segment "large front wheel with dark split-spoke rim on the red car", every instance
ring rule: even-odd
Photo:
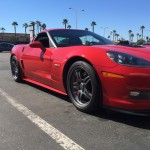
[[[77,61],[72,64],[67,76],[67,92],[78,110],[97,111],[101,104],[100,83],[89,63]]]

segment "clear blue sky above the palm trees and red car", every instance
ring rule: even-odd
[[[24,33],[23,24],[37,20],[47,29],[64,28],[63,19],[76,28],[76,12],[78,29],[92,31],[94,21],[97,34],[108,37],[116,30],[120,37],[129,39],[128,31],[132,30],[136,40],[143,25],[144,37],[150,37],[150,0],[1,0],[0,28],[13,33],[12,22],[16,21],[17,33]]]

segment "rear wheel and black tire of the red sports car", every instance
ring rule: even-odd
[[[16,82],[22,81],[21,69],[17,57],[14,55],[10,60],[12,77]]]

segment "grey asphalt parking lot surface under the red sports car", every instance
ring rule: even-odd
[[[150,117],[79,112],[67,96],[14,82],[9,56],[0,53],[0,150],[69,150],[65,138],[75,150],[150,149]]]

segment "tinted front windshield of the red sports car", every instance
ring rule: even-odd
[[[98,34],[84,30],[51,30],[49,34],[57,47],[114,44]]]

